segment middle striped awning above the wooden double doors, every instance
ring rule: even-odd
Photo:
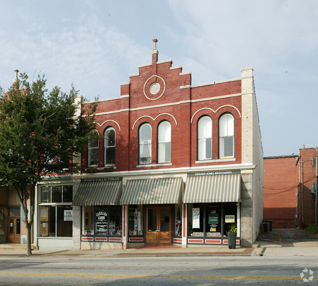
[[[182,202],[182,178],[127,180],[122,205],[177,204]]]

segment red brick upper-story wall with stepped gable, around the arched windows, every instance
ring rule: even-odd
[[[160,90],[151,94],[149,87],[159,83]],[[85,108],[85,106],[84,106]],[[225,112],[235,120],[235,161],[219,161],[218,124]],[[197,161],[197,121],[202,115],[212,118],[212,161]],[[172,67],[172,61],[139,66],[139,73],[121,85],[117,98],[101,100],[96,111],[96,130],[103,134],[112,126],[116,131],[116,169],[114,171],[226,165],[242,162],[241,79],[191,86],[191,73]],[[157,127],[168,120],[171,124],[171,163],[157,163]],[[138,127],[149,123],[152,128],[152,164],[138,166]],[[97,172],[103,169],[103,138],[99,141]],[[252,152],[252,146],[250,146]],[[82,153],[82,172],[87,168],[87,150]]]

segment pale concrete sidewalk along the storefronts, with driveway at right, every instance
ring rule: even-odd
[[[23,247],[23,248],[21,248]],[[261,234],[252,248],[139,247],[116,250],[32,250],[34,257],[134,257],[134,256],[318,256],[318,234],[305,230],[278,230]],[[25,257],[25,245],[0,244],[0,257]]]

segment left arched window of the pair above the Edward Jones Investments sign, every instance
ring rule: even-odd
[[[203,116],[198,121],[198,160],[212,159],[212,119]]]

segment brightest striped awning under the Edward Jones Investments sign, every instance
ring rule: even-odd
[[[187,177],[184,203],[241,201],[241,174]]]

